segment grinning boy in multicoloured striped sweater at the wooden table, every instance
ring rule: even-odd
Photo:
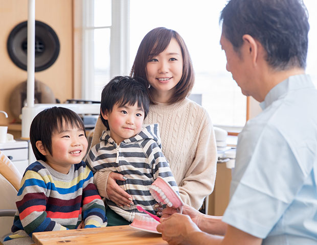
[[[13,234],[4,244],[31,244],[32,233],[106,226],[105,206],[93,173],[82,161],[85,128],[73,111],[53,107],[32,121],[36,162],[29,165],[17,193]]]

